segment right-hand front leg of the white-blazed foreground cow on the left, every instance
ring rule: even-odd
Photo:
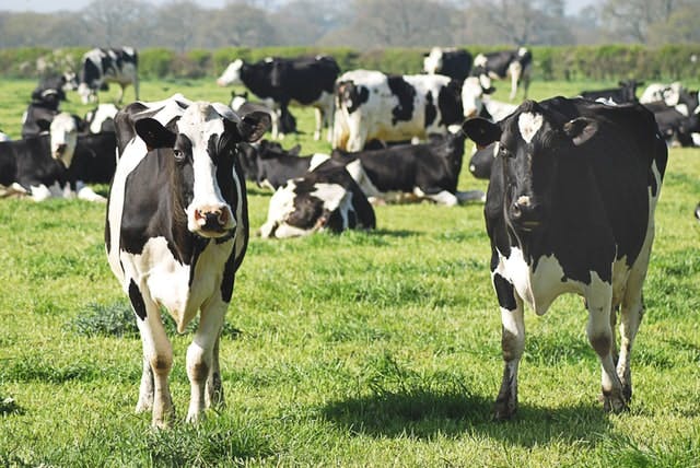
[[[212,299],[201,307],[199,327],[192,343],[187,348],[187,376],[191,387],[187,421],[197,422],[202,417],[207,381],[213,370],[213,351],[223,326],[228,304]]]

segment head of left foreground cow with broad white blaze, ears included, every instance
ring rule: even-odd
[[[266,113],[242,119],[229,107],[192,103],[167,127],[153,118],[135,124],[149,149],[161,149],[174,167],[175,198],[187,229],[202,237],[223,237],[236,226],[244,180],[235,167],[237,143],[258,140],[270,125]]]

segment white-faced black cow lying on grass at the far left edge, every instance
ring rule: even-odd
[[[48,133],[0,142],[0,196],[28,196],[35,201],[78,196],[104,201],[90,187],[78,184],[71,173],[77,144],[78,122],[68,113],[54,118]]]

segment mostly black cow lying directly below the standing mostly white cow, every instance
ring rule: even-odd
[[[352,153],[335,150],[331,157],[346,165],[360,163],[361,172],[348,169],[371,201],[431,200],[452,207],[483,196],[481,191],[457,190],[465,138],[457,130],[420,144]]]

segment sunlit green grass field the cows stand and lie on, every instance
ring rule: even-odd
[[[34,84],[0,85],[13,137]],[[532,96],[596,84],[610,83],[535,82]],[[142,97],[176,91],[230,92],[145,82]],[[295,114],[311,133],[312,113]],[[296,142],[328,149],[310,134],[283,144]],[[486,184],[465,169],[459,188]],[[257,229],[270,194],[248,192]],[[587,314],[563,296],[526,312],[520,412],[491,420],[501,325],[482,206],[423,203],[377,207],[371,233],[253,238],[221,344],[228,406],[182,422],[191,335],[176,336],[170,431],[133,412],[141,344],[107,267],[105,207],[0,200],[0,466],[700,467],[699,200],[700,150],[672,150],[627,413],[603,412]]]

